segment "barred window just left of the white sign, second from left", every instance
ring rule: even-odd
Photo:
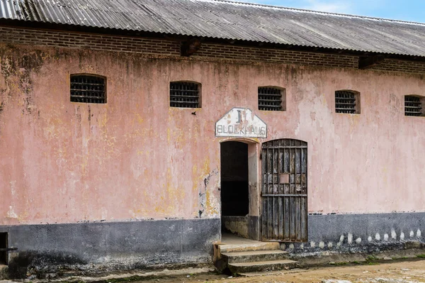
[[[194,82],[170,82],[170,106],[200,108],[199,86]]]

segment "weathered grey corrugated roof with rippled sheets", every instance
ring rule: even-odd
[[[0,18],[425,56],[425,24],[222,0],[0,0]]]

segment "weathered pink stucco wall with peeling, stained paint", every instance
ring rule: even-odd
[[[0,45],[0,224],[219,217],[214,126],[234,106],[307,141],[310,212],[425,211],[425,119],[404,116],[419,75],[36,49]],[[70,102],[74,73],[106,76],[108,104]],[[196,115],[169,107],[175,80],[202,84]],[[287,111],[257,110],[259,86]],[[361,92],[360,115],[334,113],[337,89]]]

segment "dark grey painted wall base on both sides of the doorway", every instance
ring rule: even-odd
[[[284,243],[293,256],[373,253],[423,248],[425,213],[310,215],[309,242]],[[211,262],[220,239],[215,219],[0,226],[8,232],[9,276],[58,270],[85,274],[143,269],[153,265]],[[259,236],[259,218],[249,217],[249,235]]]

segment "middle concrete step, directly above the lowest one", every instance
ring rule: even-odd
[[[228,263],[264,262],[285,260],[288,257],[288,252],[283,250],[253,250],[249,252],[222,253],[222,256],[227,257]]]

